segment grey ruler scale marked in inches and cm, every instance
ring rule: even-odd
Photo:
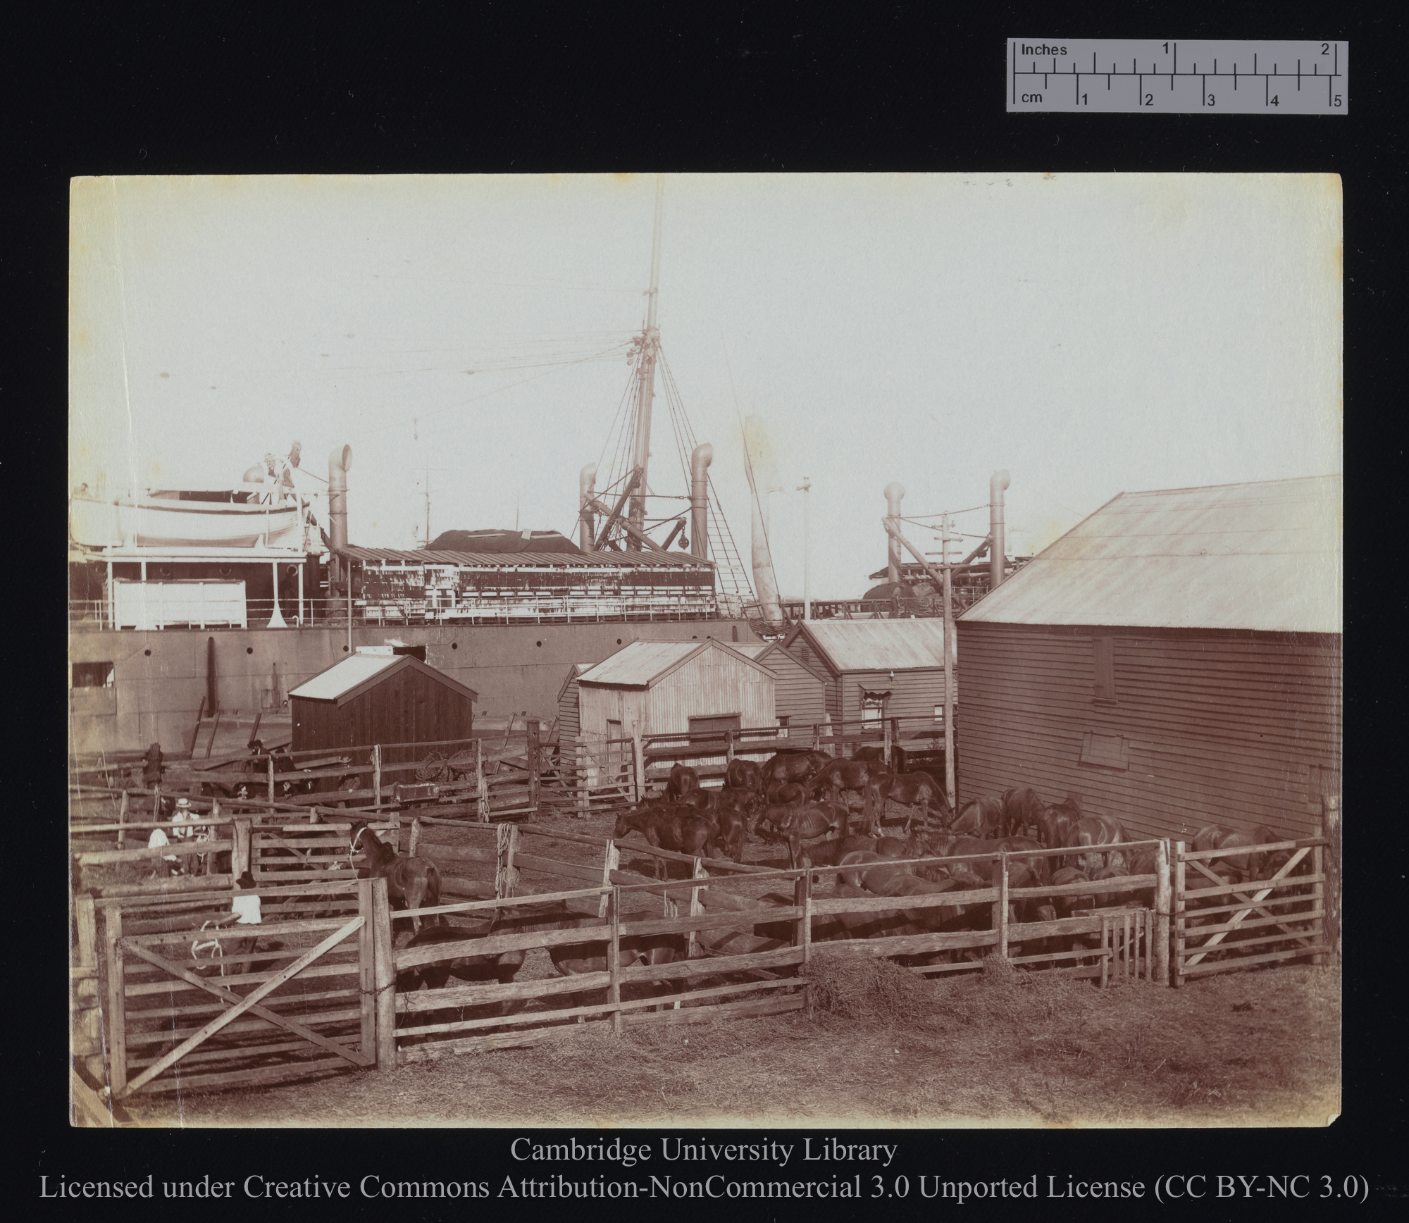
[[[1010,38],[1009,113],[1346,114],[1350,44]]]

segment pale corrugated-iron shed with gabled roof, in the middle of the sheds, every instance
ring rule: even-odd
[[[582,734],[771,727],[774,673],[723,641],[633,641],[578,678]]]

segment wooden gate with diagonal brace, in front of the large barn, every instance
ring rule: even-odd
[[[1326,940],[1324,837],[1226,850],[1174,843],[1174,983],[1254,964],[1310,958],[1323,964]],[[1241,858],[1254,875],[1229,882],[1219,859]],[[1264,865],[1264,864],[1274,865]],[[1275,865],[1279,864],[1279,865]],[[1275,893],[1275,895],[1274,895]],[[1268,899],[1272,898],[1272,899]]]

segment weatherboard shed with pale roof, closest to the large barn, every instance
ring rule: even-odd
[[[888,717],[943,726],[943,620],[805,620],[778,648],[826,676],[824,710],[834,726],[852,724],[848,733]],[[906,727],[914,730],[916,723]]]

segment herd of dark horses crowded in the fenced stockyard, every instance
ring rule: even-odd
[[[865,752],[867,750],[862,750]],[[879,755],[879,752],[876,752]],[[893,774],[885,764],[859,754],[836,759],[824,752],[779,754],[766,764],[731,761],[726,785],[719,790],[703,789],[695,769],[676,765],[665,792],[655,799],[621,813],[617,838],[638,833],[658,848],[675,850],[702,858],[728,857],[743,861],[750,838],[785,845],[790,867],[807,869],[836,868],[830,890],[817,898],[895,898],[896,906],[879,912],[840,913],[813,919],[812,940],[871,938],[905,934],[982,931],[995,920],[991,899],[972,895],[991,889],[998,867],[996,855],[1006,852],[1007,886],[1023,888],[1096,882],[1131,875],[1151,875],[1154,850],[1130,845],[1119,820],[1082,810],[1081,797],[1068,795],[1060,803],[1044,803],[1031,788],[1013,788],[998,797],[972,799],[955,812],[943,790],[926,774]],[[881,827],[885,803],[906,807],[899,836],[886,836]],[[851,820],[859,812],[857,831]],[[1193,848],[1247,847],[1247,852],[1229,854],[1206,865],[1212,874],[1230,883],[1265,879],[1288,861],[1288,851],[1261,852],[1253,847],[1275,841],[1265,827],[1251,833],[1219,826],[1202,828]],[[1069,848],[1071,855],[1024,851]],[[399,910],[434,907],[440,903],[440,872],[427,858],[399,854],[383,843],[365,823],[354,823],[351,855],[364,854],[359,874],[385,878],[390,903]],[[951,862],[913,862],[916,858],[951,858]],[[664,867],[657,859],[658,867]],[[1202,881],[1202,882],[1200,882]],[[1189,889],[1215,886],[1199,875],[1189,878]],[[907,896],[952,893],[954,903],[929,903],[906,907]],[[1216,896],[1216,900],[1224,899]],[[714,931],[702,944],[712,943],[713,954],[766,951],[789,945],[793,923],[769,920],[774,906],[793,903],[792,896],[769,895],[744,902],[737,929]],[[1213,902],[1210,902],[1213,903]],[[1016,898],[1009,906],[1012,926],[1051,921],[1081,910],[1099,907],[1148,907],[1153,888],[1133,886],[1115,892],[1071,893],[1050,898]],[[1199,923],[1198,899],[1189,903],[1191,926]],[[1216,920],[1216,919],[1215,919]],[[486,936],[599,927],[603,919],[585,914],[562,902],[503,906],[492,916],[471,923],[449,924],[444,916],[427,921],[413,917],[411,947],[472,944]],[[1010,954],[1071,952],[1092,948],[1089,936],[1043,937],[1010,944]],[[661,965],[685,960],[689,954],[685,936],[624,936],[620,940],[621,964]],[[603,972],[607,967],[602,938],[552,945],[548,954],[562,975]],[[397,974],[397,989],[441,989],[452,982],[511,982],[524,964],[526,951],[482,955],[466,954]],[[896,957],[903,964],[941,964],[954,957],[978,958],[978,951],[931,951]],[[699,981],[695,982],[700,985]],[[637,982],[621,986],[621,998],[668,998],[683,988],[681,979]],[[606,991],[579,991],[568,995],[569,1006],[592,1006],[606,1000]],[[502,1017],[526,1006],[507,1000],[482,1006],[447,1007],[417,1012],[406,1017],[407,1026],[447,1024],[457,1019]],[[410,1037],[410,1040],[424,1037]]]

